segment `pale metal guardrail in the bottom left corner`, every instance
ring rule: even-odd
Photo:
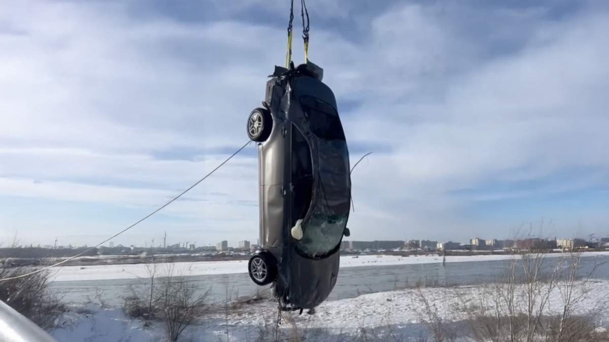
[[[0,342],[57,342],[32,321],[0,301]]]

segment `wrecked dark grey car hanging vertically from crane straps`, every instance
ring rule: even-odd
[[[248,270],[256,284],[273,283],[284,310],[314,309],[336,284],[340,242],[349,236],[347,142],[319,66],[276,66],[271,77],[247,121],[258,142],[260,216]]]

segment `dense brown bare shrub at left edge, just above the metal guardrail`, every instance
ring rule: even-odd
[[[0,268],[0,279],[31,271],[27,268]],[[49,273],[46,272],[0,282],[0,301],[43,329],[52,327],[55,319],[65,312],[60,299],[49,291]]]

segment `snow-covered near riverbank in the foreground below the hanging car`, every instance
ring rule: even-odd
[[[479,302],[481,289],[479,286],[421,288],[324,302],[317,307],[315,315],[283,313],[280,332],[287,337],[295,332],[300,337],[306,335],[308,341],[420,341],[421,337],[429,335],[424,323],[429,311],[421,299],[426,298],[443,324],[459,335],[465,333],[467,324],[463,313],[455,308],[464,300]],[[609,282],[591,282],[589,289],[585,299],[577,305],[578,310],[607,308]],[[560,293],[554,291],[549,313],[557,313],[560,308]],[[244,304],[228,313],[216,308],[188,327],[179,341],[273,340],[276,318],[276,304],[272,301]],[[609,327],[608,310],[600,310],[594,319],[597,331],[606,331],[604,329]],[[126,318],[120,309],[100,309],[95,305],[66,313],[59,325],[51,333],[61,342],[166,341],[161,322],[145,327],[139,319]],[[461,340],[468,341],[466,338]]]

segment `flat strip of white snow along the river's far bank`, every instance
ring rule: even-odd
[[[547,254],[548,257],[560,257],[560,253]],[[582,256],[609,256],[609,251],[586,252]],[[446,262],[479,262],[492,260],[506,260],[518,256],[510,255],[474,255],[474,256],[447,256]],[[342,256],[340,267],[361,267],[372,265],[407,265],[415,263],[440,263],[442,256],[429,254],[429,256]],[[163,272],[169,265],[158,263],[157,269]],[[247,260],[230,261],[204,261],[204,262],[176,262],[173,264],[174,274],[183,276],[199,276],[209,274],[247,273]],[[102,279],[135,279],[147,277],[146,264],[129,265],[94,265],[94,266],[66,266],[54,271],[51,281],[89,281]]]

